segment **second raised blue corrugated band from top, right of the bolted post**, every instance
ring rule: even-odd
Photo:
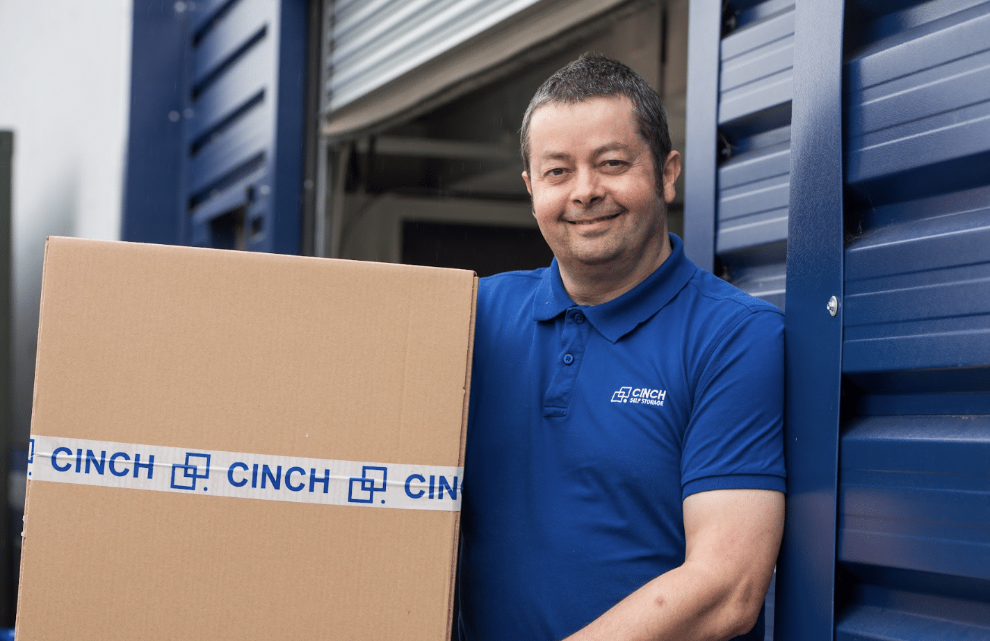
[[[843,372],[990,368],[990,187],[870,218],[895,220],[845,252]]]

